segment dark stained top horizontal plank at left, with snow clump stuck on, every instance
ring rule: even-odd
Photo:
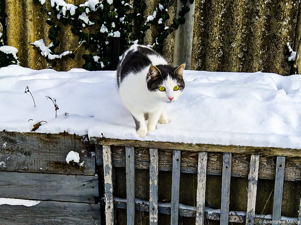
[[[70,151],[79,153],[83,166],[68,164]],[[43,157],[41,157],[43,156]],[[67,133],[0,132],[0,170],[38,173],[95,174],[95,150],[88,137]]]

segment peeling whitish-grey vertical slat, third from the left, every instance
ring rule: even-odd
[[[150,225],[158,224],[158,149],[150,149]]]

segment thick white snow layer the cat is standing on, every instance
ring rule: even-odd
[[[301,148],[301,76],[184,71],[185,89],[166,105],[171,122],[139,138],[116,71],[0,68],[0,130],[239,146]],[[24,90],[29,86],[30,95]],[[57,100],[55,110],[45,96]],[[67,116],[65,116],[67,113]],[[33,119],[33,121],[28,121]],[[2,146],[3,143],[0,143]]]

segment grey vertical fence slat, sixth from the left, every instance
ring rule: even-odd
[[[222,172],[221,225],[228,225],[232,153],[225,152]]]

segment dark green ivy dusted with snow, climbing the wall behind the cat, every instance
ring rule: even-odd
[[[1,1],[1,0],[0,0]],[[43,5],[46,0],[33,0],[36,4]],[[126,50],[133,43],[143,44],[145,33],[151,26],[156,26],[157,35],[152,47],[158,52],[163,50],[166,37],[180,24],[185,23],[184,15],[190,9],[186,5],[188,0],[181,0],[184,6],[178,13],[179,17],[167,24],[169,19],[168,9],[174,4],[173,0],[161,0],[154,13],[145,17],[143,15],[146,4],[142,0],[135,0],[131,5],[129,0],[88,0],[84,4],[73,5],[64,1],[50,0],[52,11],[48,12],[47,24],[51,26],[48,38],[51,40],[46,51],[36,46],[47,61],[56,65],[56,60],[68,55],[75,58],[74,51],[59,54],[56,48],[60,46],[57,35],[62,26],[71,25],[72,33],[78,36],[79,45],[85,46],[94,55],[84,54],[85,63],[82,68],[86,70],[107,70],[110,64],[110,43],[113,37],[120,37],[120,52]],[[193,3],[194,0],[189,0]],[[45,8],[43,8],[45,11]],[[41,41],[41,40],[39,40]],[[43,42],[44,43],[44,42]],[[48,48],[48,50],[47,50]],[[45,50],[44,46],[43,49]],[[65,54],[64,54],[65,53]],[[51,56],[51,57],[50,57]]]

